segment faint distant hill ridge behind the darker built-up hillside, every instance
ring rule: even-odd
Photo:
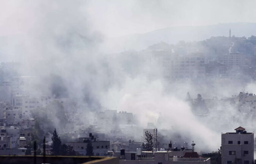
[[[256,35],[256,23],[225,23],[207,26],[182,26],[158,29],[144,34],[126,35],[123,37],[107,38],[105,49],[108,52],[120,52],[135,49],[140,51],[160,41],[176,44],[181,40],[200,41],[212,36],[250,37]]]

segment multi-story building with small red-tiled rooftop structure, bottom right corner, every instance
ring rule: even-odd
[[[243,127],[235,130],[221,134],[221,163],[253,164],[254,133],[247,133]]]

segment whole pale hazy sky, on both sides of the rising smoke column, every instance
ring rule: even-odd
[[[1,0],[0,3],[0,35],[24,34],[36,26],[38,17],[48,12],[40,8],[41,3],[38,1]],[[54,6],[62,1],[49,3]],[[79,0],[68,2],[64,9],[77,6],[74,3],[80,6],[80,13],[84,14],[92,29],[108,37],[144,33],[170,26],[256,20],[254,0]]]

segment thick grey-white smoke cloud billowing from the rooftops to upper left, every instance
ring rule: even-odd
[[[229,129],[214,130],[212,123],[199,121],[184,101],[185,95],[189,91],[192,97],[198,93],[204,98],[225,97],[239,93],[244,85],[235,82],[226,87],[215,82],[191,81],[170,84],[160,78],[161,70],[155,63],[148,63],[147,57],[136,51],[105,54],[101,48],[106,36],[95,31],[97,23],[92,23],[100,19],[90,17],[96,12],[90,6],[105,3],[95,3],[3,3],[0,9],[8,15],[0,17],[3,61],[20,61],[20,75],[36,76],[32,95],[69,97],[77,101],[80,111],[108,108],[133,112],[141,127],[148,122],[157,124],[162,116],[165,121],[159,128],[173,129],[173,133],[193,139],[198,149],[217,150],[220,132]],[[148,13],[148,9],[143,12]],[[253,92],[256,86],[248,84],[246,89]],[[229,108],[227,113],[231,111]]]

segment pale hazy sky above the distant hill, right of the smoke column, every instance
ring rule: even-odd
[[[94,24],[108,36],[170,26],[256,20],[256,1],[253,0],[105,0],[90,2],[89,6]]]

